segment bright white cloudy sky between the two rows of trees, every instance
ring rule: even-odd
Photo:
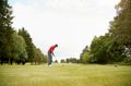
[[[13,27],[24,27],[44,54],[58,44],[53,60],[80,58],[94,36],[105,35],[120,0],[9,0]]]

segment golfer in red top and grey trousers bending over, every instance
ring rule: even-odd
[[[57,47],[58,47],[58,45],[56,44],[56,45],[51,46],[51,47],[49,48],[49,50],[48,50],[48,66],[51,66],[52,56],[55,57],[53,50],[55,50],[55,48],[57,48]]]

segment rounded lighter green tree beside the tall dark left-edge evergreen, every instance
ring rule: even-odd
[[[5,46],[5,61],[9,62],[9,64],[12,64],[13,62],[16,63],[25,63],[27,59],[26,53],[26,45],[22,36],[19,36],[16,33],[13,33],[11,35],[10,45]]]

